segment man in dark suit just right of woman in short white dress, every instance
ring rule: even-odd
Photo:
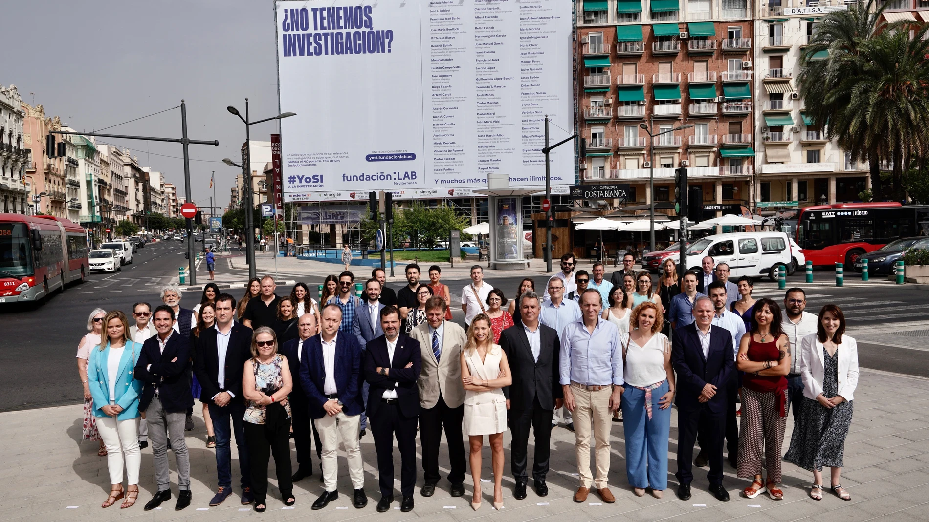
[[[529,481],[526,466],[530,427],[535,434],[532,481],[540,497],[548,494],[545,475],[548,473],[552,414],[561,407],[563,391],[557,385],[561,344],[555,329],[539,322],[542,311],[539,296],[535,292],[526,292],[520,297],[517,307],[520,322],[504,330],[500,346],[513,374],[513,384],[504,388],[504,394],[513,433],[510,467],[517,481],[513,498],[522,500],[526,498],[526,483]]]

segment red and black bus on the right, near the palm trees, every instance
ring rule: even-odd
[[[814,266],[854,266],[858,256],[900,237],[929,236],[929,206],[838,203],[781,210],[779,230],[796,237]]]

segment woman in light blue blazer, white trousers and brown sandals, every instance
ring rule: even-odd
[[[138,448],[138,395],[142,382],[133,377],[142,345],[129,337],[129,322],[118,310],[103,318],[104,341],[91,350],[87,380],[93,398],[94,415],[110,467],[110,496],[100,507],[110,507],[125,497],[125,509],[138,498],[138,468],[142,454]],[[129,486],[123,489],[123,469]]]

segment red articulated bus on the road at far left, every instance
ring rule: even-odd
[[[0,303],[37,302],[90,274],[87,236],[52,216],[0,213]]]

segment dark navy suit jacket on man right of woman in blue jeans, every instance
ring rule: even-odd
[[[732,334],[726,328],[710,325],[710,352],[703,357],[697,323],[674,330],[671,345],[671,363],[677,373],[677,399],[674,403],[682,411],[696,411],[701,407],[712,414],[726,414],[726,388],[735,375]],[[710,383],[716,394],[710,401],[697,400],[703,387]]]

